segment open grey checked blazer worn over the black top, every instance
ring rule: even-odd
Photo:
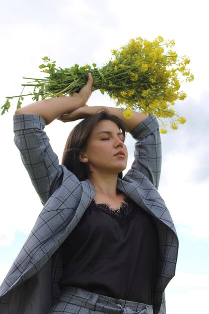
[[[0,287],[1,314],[47,314],[59,298],[60,246],[78,224],[94,196],[89,180],[80,182],[59,165],[45,131],[45,120],[32,114],[14,116],[15,143],[44,205],[26,243]],[[131,131],[137,140],[131,169],[118,189],[148,212],[158,231],[154,314],[165,313],[164,289],[174,276],[178,239],[170,214],[157,192],[161,143],[153,115]],[[140,284],[140,283],[139,283]]]

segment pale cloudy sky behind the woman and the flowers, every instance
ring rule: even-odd
[[[0,5],[0,104],[21,92],[23,77],[40,77],[38,66],[50,56],[61,67],[95,62],[99,67],[130,38],[175,41],[187,55],[194,81],[183,84],[184,101],[175,110],[187,122],[162,137],[159,193],[171,213],[179,237],[176,275],[166,288],[167,314],[205,312],[209,295],[209,90],[208,10],[206,1],[154,0],[7,0]],[[25,98],[23,105],[29,104]],[[99,91],[88,105],[114,106]],[[29,235],[42,204],[30,183],[13,138],[13,114],[0,116],[1,219],[0,281]],[[62,157],[75,125],[54,121],[46,127],[51,145]],[[134,140],[127,136],[128,165]],[[193,302],[192,302],[193,300]],[[195,304],[195,305],[193,305]]]

